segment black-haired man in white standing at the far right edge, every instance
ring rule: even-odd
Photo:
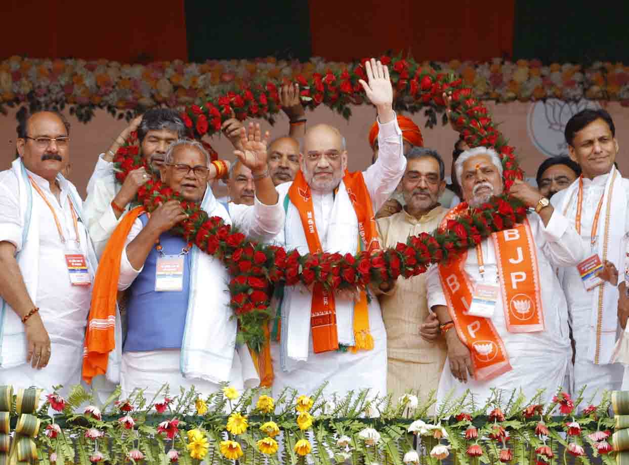
[[[574,221],[587,249],[586,259],[560,271],[575,342],[574,391],[587,388],[586,400],[600,401],[604,389],[620,389],[623,367],[611,363],[618,327],[616,283],[595,276],[601,264],[623,269],[622,255],[629,181],[614,162],[618,154],[615,126],[604,109],[584,109],[565,126],[570,158],[582,174],[555,194],[552,204]]]

